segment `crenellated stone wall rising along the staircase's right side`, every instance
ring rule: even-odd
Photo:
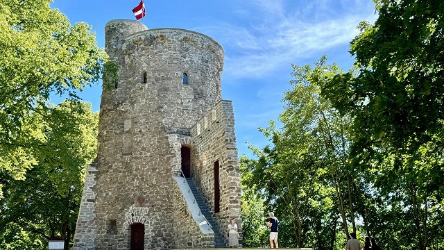
[[[231,101],[220,101],[191,128],[191,174],[223,231],[236,218],[241,234],[241,184]],[[220,212],[214,213],[214,163],[219,161]]]

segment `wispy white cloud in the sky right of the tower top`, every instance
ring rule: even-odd
[[[346,46],[357,35],[359,22],[375,19],[373,6],[361,0],[311,1],[304,8],[293,10],[283,0],[248,3],[252,4],[250,10],[239,10],[244,14],[254,13],[248,17],[251,20],[248,28],[232,23],[205,28],[206,32],[218,34],[225,51],[230,51],[225,54],[224,69],[229,77],[264,76],[287,67],[297,58]],[[345,9],[335,12],[338,6]]]

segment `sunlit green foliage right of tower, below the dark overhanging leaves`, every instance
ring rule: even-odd
[[[244,159],[242,167],[243,185],[263,195],[266,210],[280,219],[281,246],[343,249],[347,232],[356,231],[361,242],[370,235],[382,249],[439,247],[443,130],[427,142],[398,148],[384,140],[386,134],[370,133],[369,126],[379,125],[366,119],[375,110],[359,117],[357,110],[339,106],[339,113],[330,101],[347,100],[347,93],[325,94],[325,86],[338,79],[359,81],[359,72],[343,73],[325,65],[325,57],[314,68],[293,68],[282,128],[274,122],[261,128],[272,144],[262,150],[250,146],[257,159]],[[369,103],[367,98],[353,107],[365,110]]]

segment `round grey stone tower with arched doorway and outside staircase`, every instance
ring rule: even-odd
[[[103,88],[99,151],[87,169],[74,249],[225,244],[219,232],[230,218],[241,225],[241,190],[232,104],[221,98],[221,45],[116,19],[105,25],[105,50],[119,81]]]

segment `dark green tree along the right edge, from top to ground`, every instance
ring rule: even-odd
[[[426,249],[443,239],[430,212],[444,211],[444,3],[377,1],[377,11],[351,42],[359,74],[337,74],[322,94],[353,118],[355,165]]]

